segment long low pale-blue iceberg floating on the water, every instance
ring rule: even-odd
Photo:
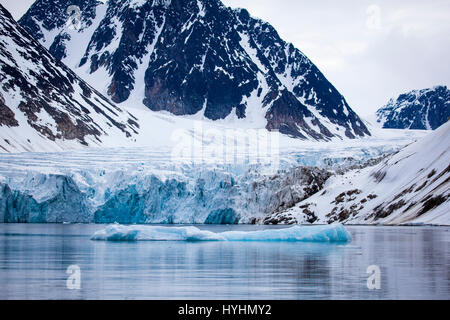
[[[215,233],[197,227],[110,225],[95,232],[92,240],[103,241],[303,241],[350,242],[352,237],[342,224],[294,226],[258,231]]]

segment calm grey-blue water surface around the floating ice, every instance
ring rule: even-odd
[[[448,227],[348,227],[347,245],[89,240],[102,227],[0,224],[0,299],[450,299]]]

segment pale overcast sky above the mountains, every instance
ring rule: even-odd
[[[33,0],[0,0],[18,19]],[[270,24],[361,116],[413,89],[450,87],[449,0],[222,0]]]

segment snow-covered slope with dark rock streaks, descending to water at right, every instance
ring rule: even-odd
[[[331,177],[325,188],[266,223],[450,225],[450,122],[376,166]]]

